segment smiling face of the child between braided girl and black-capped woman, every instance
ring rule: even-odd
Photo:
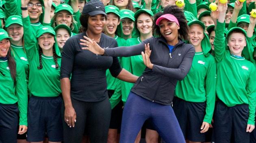
[[[70,35],[66,29],[60,28],[56,31],[56,40],[59,48],[63,48],[68,38],[70,38]]]

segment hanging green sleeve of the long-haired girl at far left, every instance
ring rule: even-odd
[[[18,99],[18,108],[20,110],[20,124],[28,126],[27,110],[28,110],[28,93],[25,69],[17,64],[15,95]]]

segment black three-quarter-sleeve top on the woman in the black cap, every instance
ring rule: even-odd
[[[97,102],[108,97],[106,84],[106,69],[116,77],[121,72],[117,57],[96,55],[89,50],[82,50],[80,39],[85,32],[73,36],[63,46],[61,59],[61,79],[71,78],[71,97],[79,101]],[[117,47],[115,39],[101,34],[102,48]]]

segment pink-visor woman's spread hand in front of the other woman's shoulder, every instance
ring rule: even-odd
[[[91,40],[90,38],[84,36],[84,39],[80,39],[81,43],[80,45],[87,46],[82,47],[83,50],[89,50],[94,54],[103,55],[105,50],[104,48],[101,48],[94,40]]]

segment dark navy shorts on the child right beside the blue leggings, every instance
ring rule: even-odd
[[[206,141],[206,133],[200,132],[206,114],[206,102],[189,102],[174,97],[173,109],[185,139]]]

